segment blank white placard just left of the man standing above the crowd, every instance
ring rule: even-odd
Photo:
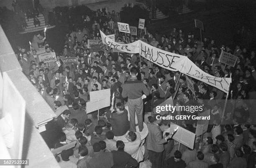
[[[86,102],[86,113],[110,106],[110,89],[90,92],[90,102]]]

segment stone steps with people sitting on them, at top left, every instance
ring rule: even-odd
[[[38,18],[38,20],[40,21],[41,24],[40,24],[40,26],[37,25],[35,27],[33,18],[27,19],[27,17],[26,17],[26,23],[27,23],[28,26],[24,31],[20,32],[20,34],[30,33],[30,32],[35,32],[35,31],[42,31],[42,30],[44,30],[45,27],[47,27],[47,29],[55,27],[55,25],[50,25],[50,26],[45,25],[44,15],[40,14],[40,15],[38,15],[37,18]]]

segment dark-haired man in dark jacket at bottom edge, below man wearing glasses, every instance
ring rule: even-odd
[[[112,168],[130,168],[130,167],[137,167],[138,162],[136,159],[132,158],[130,154],[124,151],[125,144],[123,141],[118,140],[116,142],[116,148],[118,150],[113,150],[113,160],[114,165]]]

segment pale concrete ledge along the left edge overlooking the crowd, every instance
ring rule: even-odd
[[[29,167],[59,167],[54,155],[51,153],[38,131],[39,127],[44,127],[44,125],[56,115],[23,74],[18,59],[1,26],[0,71],[2,73],[5,72],[10,77],[16,89],[18,89],[18,92],[26,101],[22,159],[29,159]],[[15,102],[13,103],[15,104]],[[0,116],[2,116],[1,110]]]

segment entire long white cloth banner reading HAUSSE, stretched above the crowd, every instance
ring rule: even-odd
[[[111,48],[116,48],[125,53],[139,53],[147,60],[162,68],[170,71],[180,71],[182,74],[191,76],[192,78],[216,87],[225,93],[228,93],[229,91],[231,78],[218,78],[207,74],[186,56],[161,50],[140,40],[129,44],[119,44],[110,40],[104,33],[102,33],[102,31],[100,31],[100,33],[102,42]]]

